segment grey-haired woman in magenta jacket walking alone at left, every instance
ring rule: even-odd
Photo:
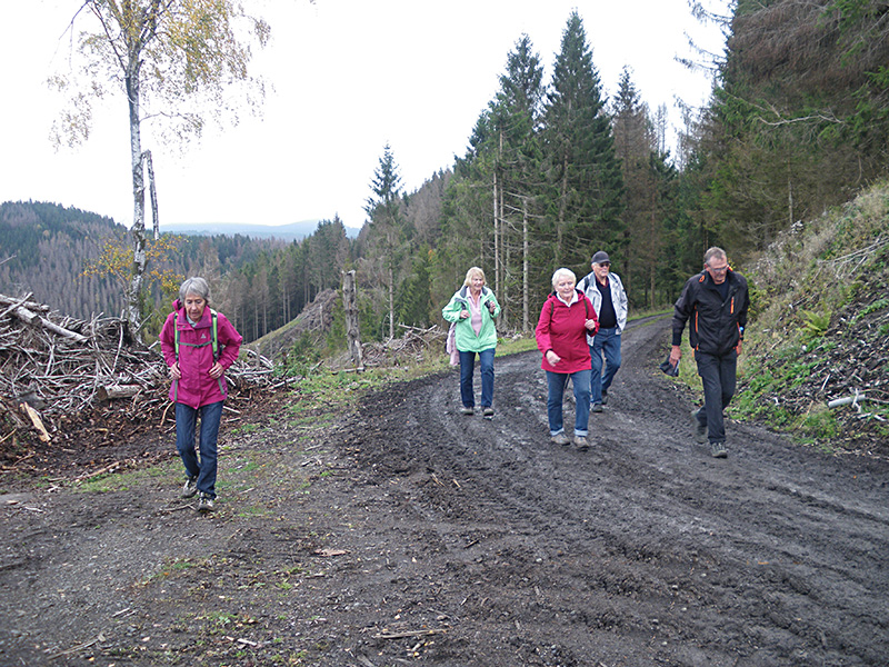
[[[186,466],[182,497],[200,494],[198,509],[216,501],[217,438],[222,404],[228,396],[224,372],[238,359],[243,338],[221,312],[210,307],[210,287],[189,278],[179,288],[173,312],[160,332],[163,359],[170,367],[170,400],[176,404],[176,448]],[[200,459],[194,431],[200,416]]]

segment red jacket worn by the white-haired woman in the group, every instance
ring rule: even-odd
[[[577,301],[570,307],[552,292],[540,310],[540,319],[535,329],[537,347],[543,352],[543,360],[540,368],[553,372],[577,372],[578,370],[590,370],[590,348],[587,345],[587,320],[596,320],[596,330],[590,331],[590,336],[599,330],[599,318],[596,309],[587,296],[576,289]],[[552,350],[561,360],[556,366],[550,366],[547,361],[547,350]]]

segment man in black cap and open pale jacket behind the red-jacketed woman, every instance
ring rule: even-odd
[[[592,272],[580,281],[599,316],[599,331],[587,336],[592,358],[592,379],[590,381],[591,411],[601,412],[608,402],[608,389],[620,368],[620,334],[627,326],[627,292],[617,273],[611,272],[608,252],[599,250],[590,261]],[[605,370],[602,370],[605,355]]]

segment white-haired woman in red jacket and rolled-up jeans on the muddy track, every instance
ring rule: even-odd
[[[562,395],[568,378],[575,388],[575,445],[581,451],[587,442],[590,419],[590,348],[591,336],[599,330],[599,319],[587,296],[575,288],[577,278],[569,269],[557,269],[552,275],[552,293],[543,302],[535,335],[537,347],[543,352],[540,367],[547,371],[549,396],[547,416],[549,434],[557,445],[568,445],[562,425]]]

